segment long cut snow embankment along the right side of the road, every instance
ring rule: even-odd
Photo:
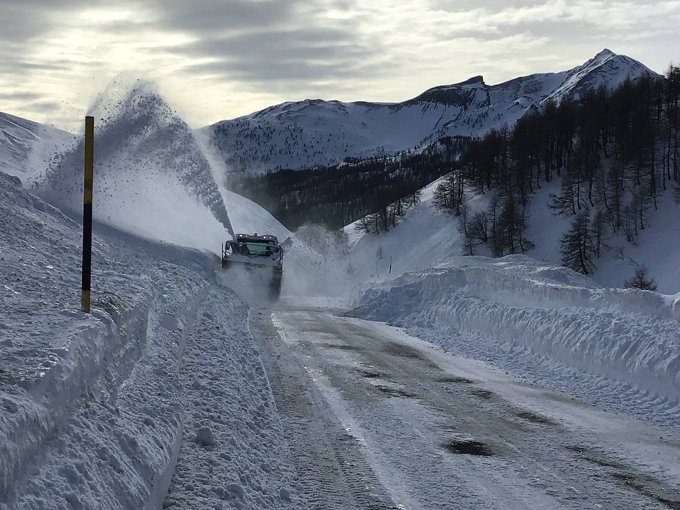
[[[389,321],[543,385],[680,423],[680,300],[602,289],[523,255],[453,257],[371,289],[350,312]]]

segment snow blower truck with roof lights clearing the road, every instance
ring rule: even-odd
[[[270,298],[281,294],[283,247],[275,235],[237,234],[222,244],[222,269],[241,267],[255,278],[254,285],[268,284]]]

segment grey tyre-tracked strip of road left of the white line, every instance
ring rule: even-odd
[[[266,312],[250,322],[284,426],[304,508],[399,509],[369,466],[361,445],[343,428],[271,324]]]

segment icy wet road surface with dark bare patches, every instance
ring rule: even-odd
[[[680,436],[396,328],[253,314],[313,509],[678,509]]]

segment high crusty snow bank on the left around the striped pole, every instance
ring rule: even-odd
[[[95,232],[86,316],[80,226],[2,173],[0,223],[0,507],[144,507],[179,433],[170,362],[201,255]]]

